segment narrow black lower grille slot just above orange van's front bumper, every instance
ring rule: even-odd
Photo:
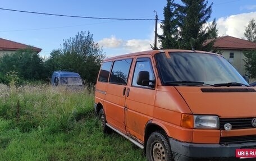
[[[221,137],[220,144],[239,143],[239,142],[253,142],[253,141],[256,141],[256,135],[228,136],[228,137]]]

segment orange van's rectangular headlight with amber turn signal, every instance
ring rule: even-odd
[[[220,128],[220,120],[218,116],[212,115],[182,114],[181,126],[198,129],[218,129]]]

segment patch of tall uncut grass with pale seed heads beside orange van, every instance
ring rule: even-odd
[[[21,131],[42,126],[53,132],[68,132],[92,111],[93,95],[88,91],[69,91],[51,85],[7,87],[2,95],[8,97],[0,98],[0,117],[11,119]]]

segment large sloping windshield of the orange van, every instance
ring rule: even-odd
[[[170,52],[155,57],[163,85],[249,86],[225,58],[216,54]]]

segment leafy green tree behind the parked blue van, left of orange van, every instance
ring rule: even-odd
[[[78,72],[82,79],[95,83],[104,58],[103,49],[93,40],[93,35],[81,31],[74,38],[63,40],[61,49],[53,50],[45,62],[48,71]]]

